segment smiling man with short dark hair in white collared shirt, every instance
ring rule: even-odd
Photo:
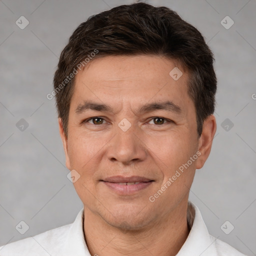
[[[121,5],[81,23],[54,76],[59,131],[83,209],[5,255],[243,255],[188,202],[216,131],[213,54],[167,7]]]

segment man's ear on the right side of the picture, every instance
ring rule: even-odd
[[[196,169],[200,169],[208,158],[215,132],[216,120],[214,115],[211,114],[203,122],[202,133],[198,143],[198,151],[201,154],[196,160]]]

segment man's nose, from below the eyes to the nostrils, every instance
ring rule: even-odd
[[[116,127],[115,135],[109,141],[107,148],[107,158],[110,161],[129,165],[146,158],[146,146],[143,143],[143,138],[134,131],[133,127],[126,131]]]

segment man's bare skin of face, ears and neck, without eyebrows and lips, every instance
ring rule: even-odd
[[[176,255],[187,238],[189,188],[195,169],[210,153],[216,121],[210,115],[198,136],[194,103],[187,93],[188,73],[179,67],[183,74],[174,80],[169,72],[175,66],[173,60],[159,56],[105,56],[76,74],[68,136],[60,118],[59,131],[66,166],[80,174],[74,187],[84,205],[84,234],[91,255]],[[77,114],[75,109],[84,100],[108,104],[114,112]],[[181,112],[136,111],[140,105],[164,100],[171,100]],[[97,119],[100,124],[88,120],[95,116],[103,118]],[[123,118],[131,124],[127,131],[118,126]],[[149,201],[196,152],[200,156]],[[154,182],[132,195],[120,195],[99,181],[112,175],[139,175]]]

